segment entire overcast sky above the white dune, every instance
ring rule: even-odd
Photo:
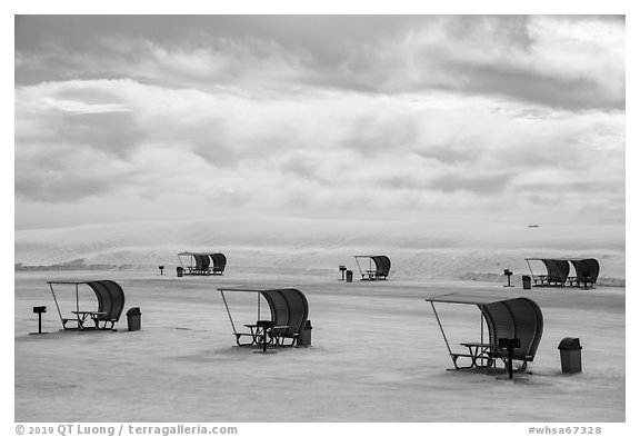
[[[16,19],[16,228],[624,220],[624,20]]]

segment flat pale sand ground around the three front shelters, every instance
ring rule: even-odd
[[[171,274],[171,272],[170,272]],[[338,272],[337,272],[338,274]],[[47,280],[113,279],[127,302],[117,331],[60,331]],[[237,347],[218,287],[287,286],[310,306],[312,346]],[[72,288],[56,288],[61,310]],[[536,360],[514,380],[452,367],[424,301],[464,290],[524,296],[541,307]],[[356,281],[329,276],[159,276],[141,271],[16,272],[16,421],[624,421],[624,288],[506,288],[491,282]],[[94,309],[94,297],[81,296]],[[46,305],[33,336],[33,306]],[[229,298],[236,326],[254,295]],[[140,307],[142,329],[127,330]],[[478,340],[474,307],[438,307],[453,347]],[[264,309],[264,307],[262,308]],[[558,344],[578,337],[581,374],[561,373]]]

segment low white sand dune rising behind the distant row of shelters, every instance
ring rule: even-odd
[[[384,254],[391,277],[402,279],[496,279],[506,268],[527,274],[527,257],[593,257],[603,280],[626,277],[624,226],[243,217],[16,231],[16,262],[23,265],[171,269],[183,250],[222,251],[231,271],[326,275],[338,265],[357,270],[353,255]]]

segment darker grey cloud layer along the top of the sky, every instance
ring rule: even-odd
[[[178,26],[181,20],[183,28]],[[33,75],[64,79],[102,75],[171,87],[237,87],[256,95],[297,87],[372,93],[446,90],[554,108],[624,107],[623,20],[564,16],[324,17],[319,23],[306,17],[209,20],[206,26],[207,20],[174,18],[163,36],[141,34],[132,18],[113,23],[122,33],[108,32],[106,20],[97,27],[101,31],[89,33],[83,42],[62,38],[61,32],[70,31],[59,24],[54,33],[59,39],[48,39],[49,54],[36,42],[18,43],[17,80]],[[150,21],[140,18],[141,23]],[[23,34],[34,30],[30,22],[19,27],[22,39],[29,40]],[[326,41],[327,28],[332,29],[331,44]]]

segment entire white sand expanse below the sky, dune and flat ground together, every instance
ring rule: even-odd
[[[222,277],[176,278],[176,254],[222,251]],[[624,282],[624,227],[240,218],[134,222],[16,232],[16,262],[76,264],[17,270],[18,421],[624,421],[624,287],[504,288],[526,257],[594,257]],[[388,281],[338,281],[353,255],[391,258]],[[74,261],[76,260],[76,261]],[[81,270],[90,265],[127,269]],[[158,274],[167,266],[167,275]],[[59,332],[48,279],[120,282],[142,330]],[[490,281],[461,280],[489,279]],[[518,282],[517,279],[514,279]],[[234,347],[221,285],[286,285],[310,302],[313,347],[261,356]],[[424,298],[464,289],[526,296],[544,315],[531,374],[509,383],[448,371],[451,361]],[[62,310],[73,296],[60,297]],[[32,306],[47,305],[46,336]],[[238,326],[254,300],[232,302]],[[452,345],[477,339],[474,308],[442,308]],[[583,345],[583,373],[560,371],[563,337]],[[278,401],[273,401],[278,399]],[[90,400],[90,401],[89,401]]]

